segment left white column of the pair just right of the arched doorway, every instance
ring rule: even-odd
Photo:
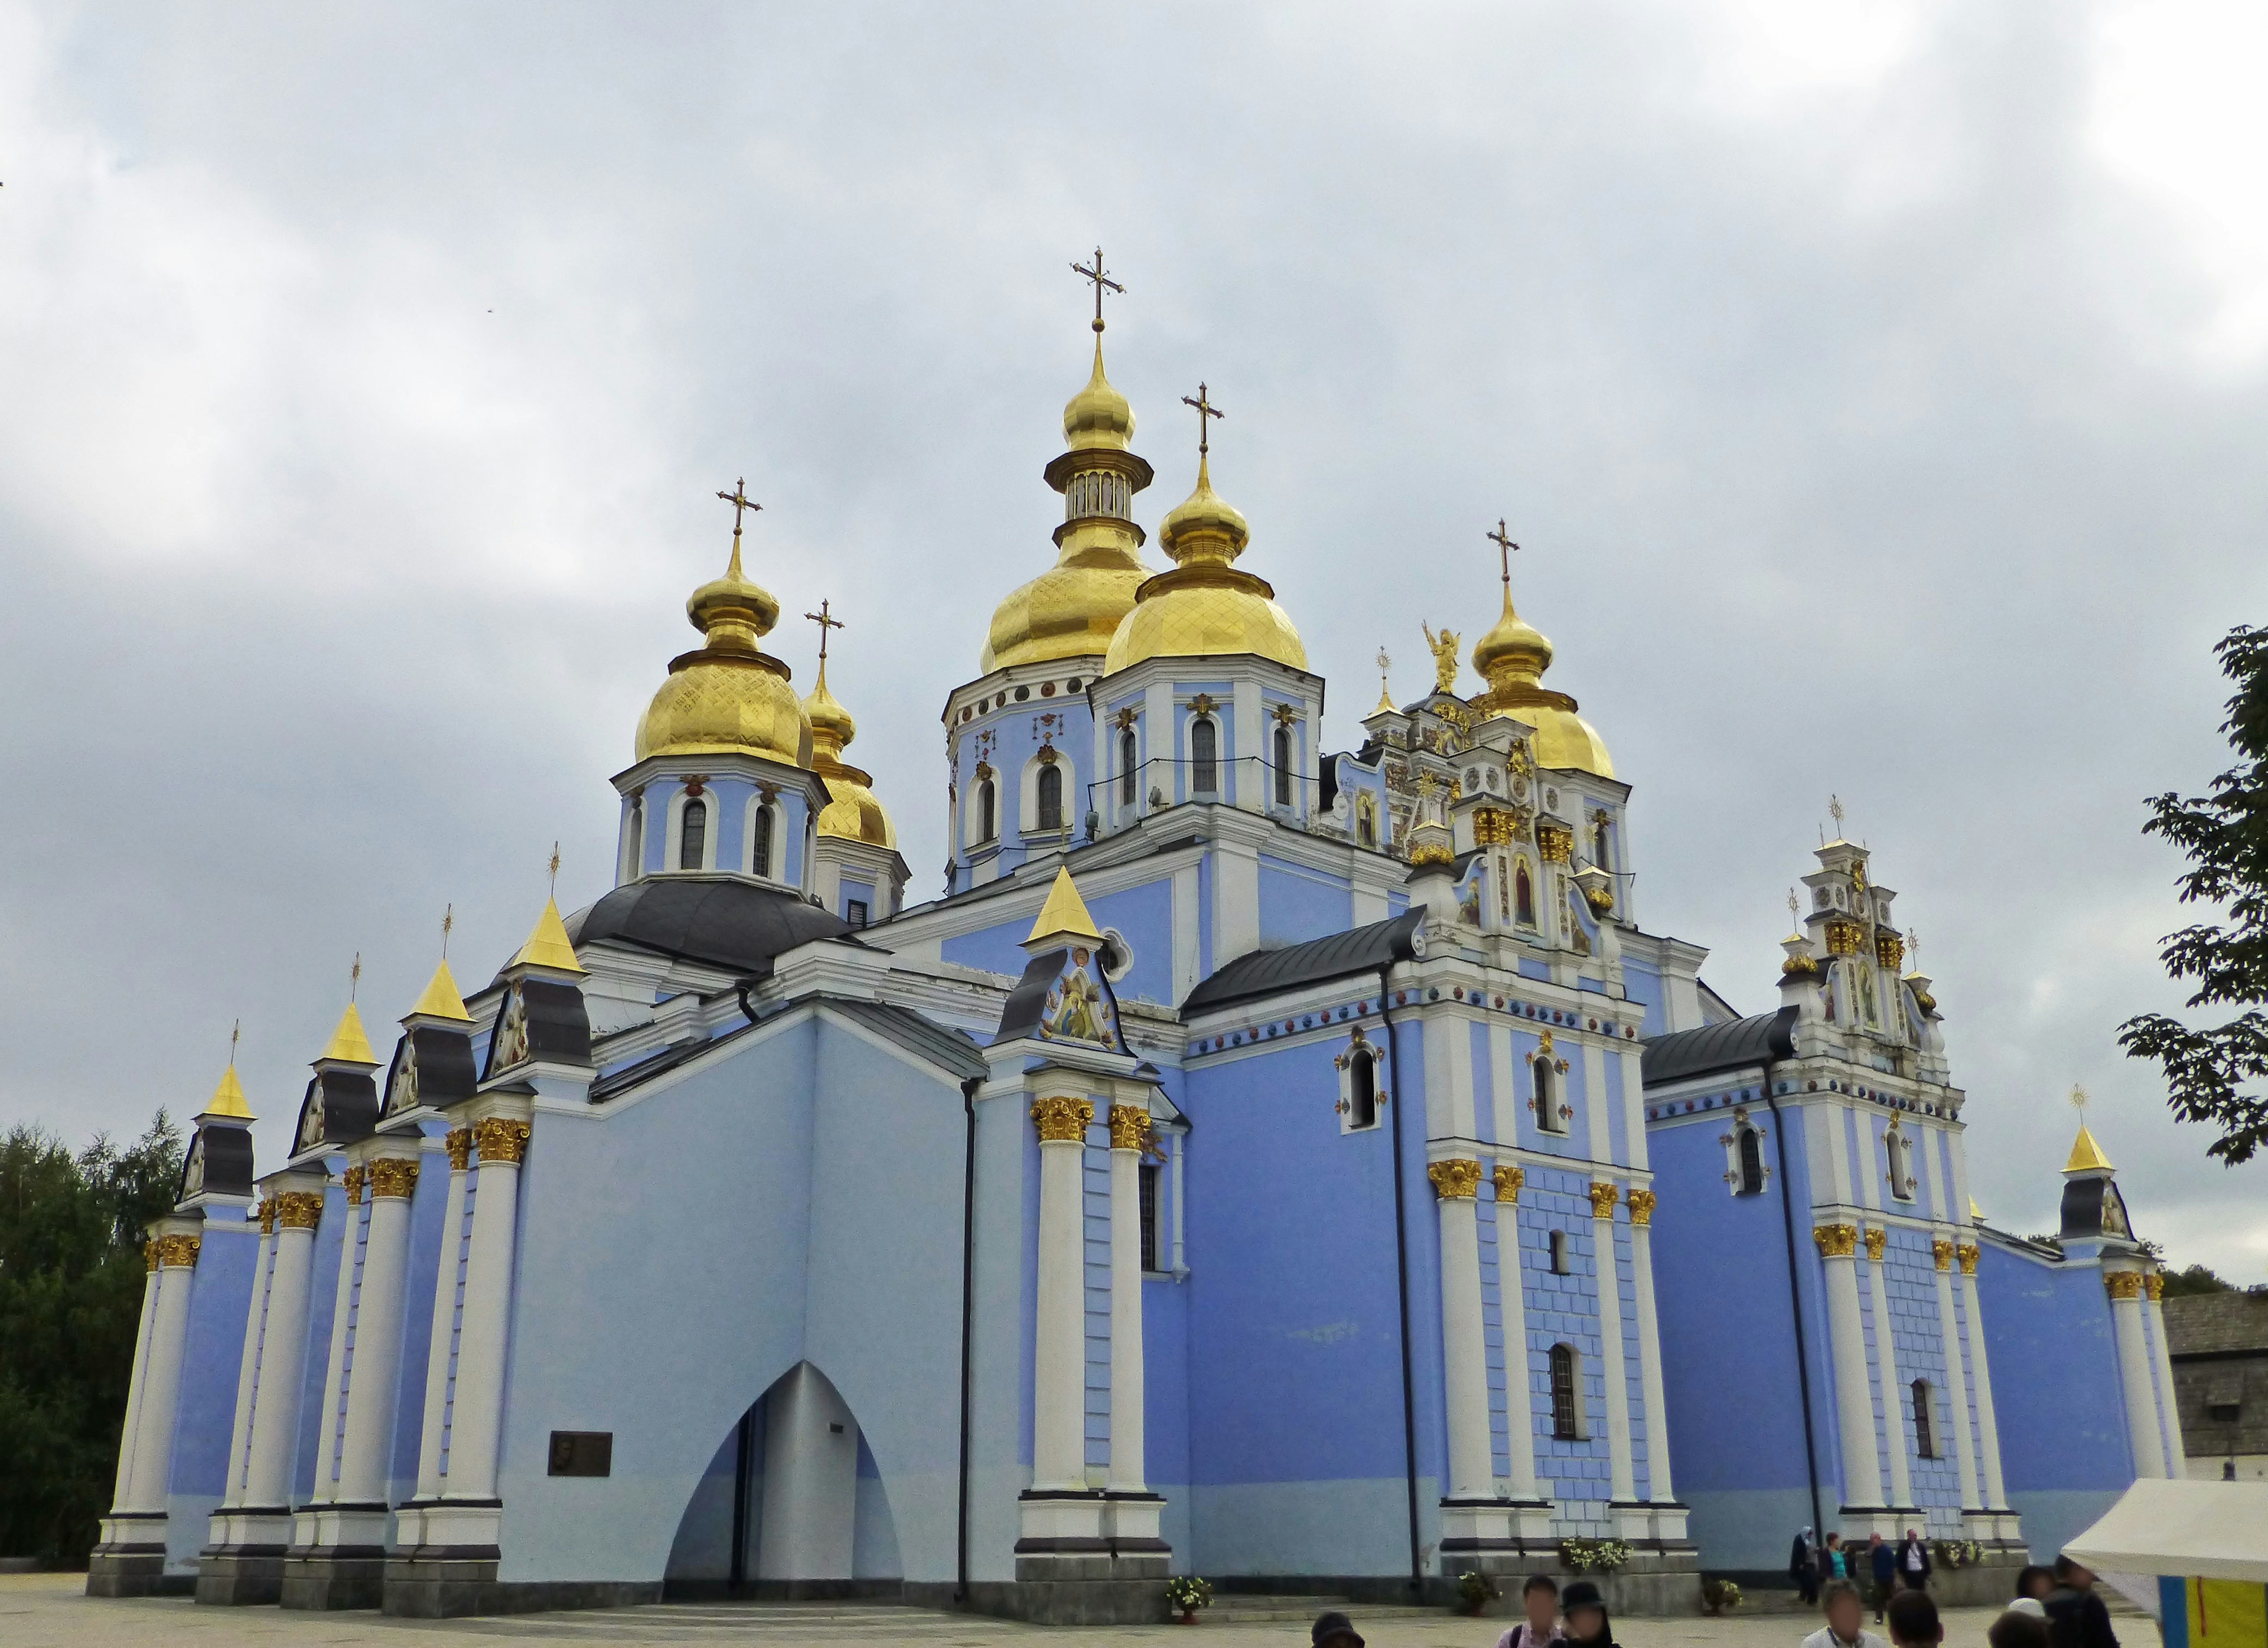
[[[1086,1492],[1089,1099],[1039,1099],[1039,1308],[1032,1347],[1032,1489]]]

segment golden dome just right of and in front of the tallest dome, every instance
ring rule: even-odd
[[[1236,571],[1252,528],[1218,492],[1211,460],[1198,458],[1198,490],[1159,526],[1173,571],[1136,589],[1134,610],[1118,623],[1102,673],[1145,657],[1272,657],[1306,669],[1306,646],[1290,614],[1275,603],[1266,578]]]

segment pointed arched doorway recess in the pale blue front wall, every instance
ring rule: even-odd
[[[739,1417],[685,1501],[662,1594],[894,1596],[889,1494],[850,1405],[796,1362]]]

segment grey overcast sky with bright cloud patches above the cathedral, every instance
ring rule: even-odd
[[[0,1122],[193,1113],[240,1016],[272,1163],[356,952],[386,1043],[445,904],[469,988],[553,839],[596,898],[742,474],[932,898],[1100,240],[1136,515],[1204,379],[1331,746],[1506,517],[1647,927],[1771,1006],[1842,796],[1987,1215],[2053,1226],[2084,1081],[2136,1226],[2261,1281],[2268,1163],[2114,1031],[2268,619],[2263,70],[2073,0],[0,2]]]

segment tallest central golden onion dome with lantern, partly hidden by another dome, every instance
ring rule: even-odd
[[[1134,456],[1134,408],[1102,376],[1102,322],[1095,322],[1095,369],[1064,406],[1066,451],[1048,465],[1048,485],[1064,494],[1055,528],[1057,562],[1009,592],[993,610],[982,673],[1057,657],[1095,657],[1134,608],[1150,569],[1141,564],[1143,530],[1134,494],[1150,485],[1150,465]]]

